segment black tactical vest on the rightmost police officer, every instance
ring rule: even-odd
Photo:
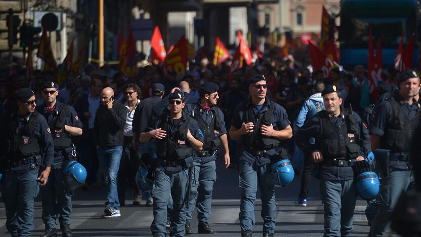
[[[391,153],[408,153],[412,134],[418,125],[419,108],[417,108],[415,116],[409,119],[393,97],[387,101],[392,107],[392,120],[387,123],[382,148],[390,149]]]

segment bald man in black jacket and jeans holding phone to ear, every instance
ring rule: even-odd
[[[117,195],[117,173],[123,150],[123,128],[127,108],[114,100],[114,91],[106,87],[101,91],[101,106],[95,116],[96,147],[101,171],[108,186],[107,201],[102,217],[120,216]]]

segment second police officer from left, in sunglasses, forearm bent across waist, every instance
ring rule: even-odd
[[[82,135],[82,123],[76,111],[70,105],[60,103],[56,98],[59,94],[54,82],[44,83],[41,90],[45,105],[38,106],[36,111],[44,115],[54,143],[54,163],[49,182],[41,187],[41,200],[43,204],[43,221],[46,231],[41,237],[57,236],[56,219],[60,214],[59,222],[63,236],[72,236],[70,229],[70,213],[72,208],[72,190],[63,185],[63,168],[74,160],[72,155],[72,136]]]

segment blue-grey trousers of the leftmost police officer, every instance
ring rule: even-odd
[[[30,236],[34,229],[33,204],[39,191],[37,178],[38,169],[3,174],[6,227],[12,236]]]

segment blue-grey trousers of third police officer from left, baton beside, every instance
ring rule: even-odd
[[[152,187],[153,221],[152,235],[166,235],[167,206],[173,196],[174,206],[171,213],[171,236],[184,236],[186,233],[186,210],[184,201],[187,192],[187,170],[175,174],[166,174],[162,167],[155,169],[155,179]]]

